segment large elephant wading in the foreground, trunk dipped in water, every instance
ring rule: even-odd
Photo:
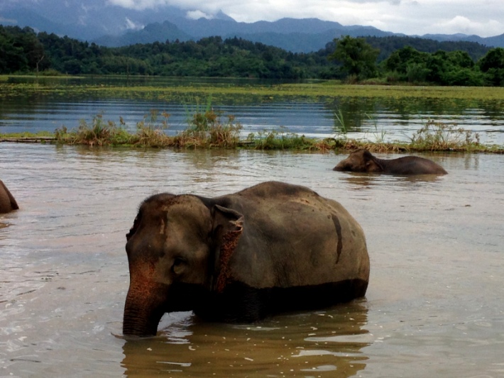
[[[365,296],[363,229],[339,202],[263,182],[207,198],[161,193],[126,235],[130,284],[123,334],[157,333],[160,318],[250,323]]]

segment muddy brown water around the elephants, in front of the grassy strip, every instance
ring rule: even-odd
[[[0,178],[21,210],[0,216],[0,377],[504,377],[504,157],[424,156],[449,174],[344,174],[333,153],[2,143]],[[122,339],[140,201],[268,179],[354,214],[366,299],[254,324],[172,313],[155,338]]]

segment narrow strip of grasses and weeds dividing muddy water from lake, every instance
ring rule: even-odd
[[[136,124],[136,133],[126,130],[126,123],[119,118],[119,126],[113,121],[104,121],[99,113],[91,123],[81,120],[76,130],[67,130],[65,126],[57,128],[53,137],[47,132],[39,134],[21,133],[0,135],[0,141],[29,141],[85,145],[131,145],[141,147],[176,147],[176,148],[252,148],[256,150],[354,150],[367,148],[371,152],[408,152],[408,151],[465,151],[504,153],[503,146],[482,145],[478,133],[432,120],[406,142],[385,142],[385,132],[376,129],[375,141],[356,140],[348,135],[336,135],[334,138],[307,138],[305,135],[290,133],[287,128],[263,130],[250,133],[241,139],[240,123],[234,116],[213,109],[204,113],[193,113],[186,130],[175,136],[165,133],[170,114],[151,110],[143,120]],[[223,121],[224,119],[224,121]]]

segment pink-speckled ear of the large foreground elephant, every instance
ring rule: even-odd
[[[221,293],[231,278],[229,260],[243,232],[243,215],[215,205],[212,209],[212,230],[216,250],[214,290]]]

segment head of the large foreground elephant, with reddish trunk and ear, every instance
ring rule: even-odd
[[[126,235],[124,335],[155,335],[163,313],[190,311],[222,289],[241,230],[241,214],[197,196],[146,199]]]

